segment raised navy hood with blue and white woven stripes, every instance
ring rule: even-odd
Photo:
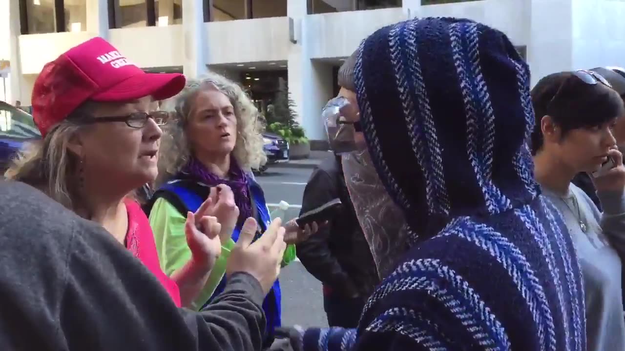
[[[467,19],[412,19],[365,39],[354,69],[372,160],[414,235],[527,204],[529,68],[507,37]]]

